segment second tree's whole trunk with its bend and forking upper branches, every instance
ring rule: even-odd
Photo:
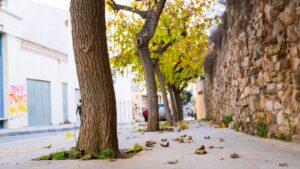
[[[110,5],[116,11],[130,11],[140,15],[143,19],[145,19],[145,23],[141,31],[136,35],[136,46],[145,73],[148,104],[147,106],[149,110],[149,121],[147,124],[148,131],[159,130],[157,88],[152,58],[149,51],[149,41],[155,34],[160,15],[165,7],[166,1],[167,0],[156,1],[155,8],[151,8],[146,11],[133,9],[130,6],[119,5],[114,0],[108,2],[108,5]]]

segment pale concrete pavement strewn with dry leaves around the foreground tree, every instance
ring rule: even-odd
[[[144,145],[147,140],[156,144],[151,151],[142,151],[131,159],[117,160],[65,160],[65,161],[31,161],[42,154],[67,150],[75,146],[73,138],[65,133],[49,134],[42,137],[0,144],[0,168],[2,169],[299,169],[300,144],[262,139],[231,129],[209,127],[194,122],[188,130],[170,133],[135,132],[133,126],[118,126],[118,139],[121,149],[130,148],[135,143]],[[192,143],[178,143],[172,139],[181,135],[193,136]],[[205,139],[210,136],[210,139]],[[159,145],[160,140],[167,138],[170,147]],[[220,138],[225,141],[220,142]],[[43,148],[52,144],[50,149]],[[196,155],[195,150],[201,145],[207,148],[206,155]],[[209,146],[220,147],[209,149]],[[2,158],[1,158],[2,152]],[[230,158],[237,153],[238,159]],[[167,164],[178,160],[177,164]],[[280,167],[286,163],[288,166]]]

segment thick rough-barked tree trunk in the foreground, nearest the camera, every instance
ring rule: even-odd
[[[77,149],[117,155],[116,100],[106,40],[105,0],[71,1],[72,35],[82,98]]]

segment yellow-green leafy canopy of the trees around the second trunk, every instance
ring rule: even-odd
[[[202,74],[204,55],[208,50],[207,29],[213,19],[207,16],[212,1],[168,1],[161,14],[154,37],[149,43],[153,62],[158,62],[167,83],[178,88]],[[133,1],[134,10],[144,10],[154,1]],[[113,46],[111,63],[120,72],[130,68],[136,80],[143,79],[143,69],[137,57],[135,37],[143,26],[142,16],[113,11],[107,22],[109,40]]]

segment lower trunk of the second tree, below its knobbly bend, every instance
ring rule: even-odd
[[[138,48],[139,57],[142,60],[145,73],[146,88],[147,88],[147,106],[149,111],[149,120],[147,123],[148,131],[159,130],[159,114],[158,114],[158,99],[157,88],[155,82],[154,68],[149,52],[148,44]]]

